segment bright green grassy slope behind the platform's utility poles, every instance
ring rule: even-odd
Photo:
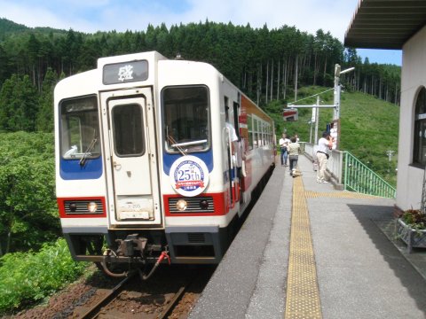
[[[320,87],[301,89],[299,99],[326,89]],[[332,105],[333,91],[320,95],[320,98],[322,105]],[[315,101],[316,97],[311,97],[300,104],[313,105]],[[298,134],[301,141],[309,142],[311,117],[311,109],[300,109],[299,121],[296,122],[283,122],[280,115],[274,115],[277,136],[287,130],[289,135]],[[386,181],[396,185],[399,107],[368,94],[344,91],[341,97],[340,117],[340,149],[351,152]],[[319,136],[327,128],[327,123],[332,120],[332,109],[320,109]],[[313,125],[312,141],[314,128]],[[388,151],[394,152],[391,160],[389,160]]]

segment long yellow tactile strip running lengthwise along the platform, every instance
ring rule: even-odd
[[[286,319],[322,318],[311,224],[302,178],[293,183]]]

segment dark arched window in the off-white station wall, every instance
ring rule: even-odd
[[[426,164],[426,89],[424,87],[419,91],[415,101],[413,164],[420,167]]]

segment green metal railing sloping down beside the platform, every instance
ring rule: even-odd
[[[383,198],[396,198],[397,190],[390,183],[375,174],[350,152],[344,153],[343,184],[346,191],[357,191]]]

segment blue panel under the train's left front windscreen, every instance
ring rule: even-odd
[[[102,157],[86,159],[84,166],[80,159],[59,159],[59,174],[64,180],[97,179],[102,175]]]

